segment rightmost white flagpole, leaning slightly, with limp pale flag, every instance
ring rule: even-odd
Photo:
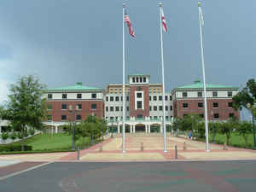
[[[198,11],[199,11],[199,24],[200,24],[200,38],[201,38],[201,65],[203,71],[203,81],[204,81],[204,102],[205,102],[205,127],[206,127],[206,137],[207,137],[207,152],[210,152],[209,149],[209,138],[208,138],[208,115],[207,115],[207,87],[206,87],[206,73],[205,73],[205,58],[204,58],[204,49],[203,49],[203,38],[202,38],[202,17],[201,17],[201,3],[198,2]]]

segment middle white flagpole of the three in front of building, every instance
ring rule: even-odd
[[[161,39],[161,61],[162,61],[162,84],[163,84],[163,94],[162,94],[162,105],[163,105],[163,129],[164,129],[164,153],[166,150],[166,90],[165,90],[165,67],[164,67],[164,46],[163,46],[163,28],[161,19],[161,7],[162,3],[159,3],[160,7],[160,39]]]

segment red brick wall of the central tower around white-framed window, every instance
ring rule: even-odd
[[[144,109],[135,110],[135,91],[138,87],[141,87],[143,90],[144,96]],[[149,116],[149,96],[148,96],[148,85],[130,85],[130,116],[137,117],[137,114],[142,114],[143,118]]]

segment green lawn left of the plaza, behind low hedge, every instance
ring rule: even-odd
[[[80,138],[76,144],[89,143],[88,138]],[[27,145],[32,146],[32,150],[68,150],[72,147],[72,137],[64,134],[39,134],[26,140]]]

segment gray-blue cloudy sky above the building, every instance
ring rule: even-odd
[[[246,2],[246,3],[245,3]],[[18,76],[49,88],[122,83],[122,1],[4,0],[0,6],[0,101]],[[136,38],[125,37],[126,76],[161,82],[159,1],[125,1]],[[166,90],[202,76],[196,0],[162,1]],[[256,1],[203,1],[207,83],[255,78]],[[127,34],[128,30],[125,27]],[[125,77],[125,79],[127,79]]]

